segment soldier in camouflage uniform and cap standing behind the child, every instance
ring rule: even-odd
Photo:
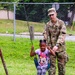
[[[56,74],[56,59],[58,64],[58,75],[65,75],[65,65],[67,62],[67,53],[65,48],[66,26],[64,22],[57,18],[55,8],[48,10],[50,21],[46,24],[44,39],[47,45],[55,51],[56,56],[50,55],[51,67],[48,75]]]

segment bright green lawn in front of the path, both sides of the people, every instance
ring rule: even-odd
[[[33,41],[35,49],[38,40]],[[75,75],[75,42],[66,41],[69,62],[66,65],[66,75]],[[9,72],[9,75],[36,75],[36,68],[33,57],[29,56],[31,42],[26,38],[17,38],[16,42],[12,37],[0,36],[0,48]],[[0,60],[0,75],[5,75],[5,71]],[[57,74],[58,75],[58,74]]]

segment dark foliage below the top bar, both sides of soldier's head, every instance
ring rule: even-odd
[[[16,18],[20,20],[29,20],[34,22],[42,22],[42,21],[47,22],[48,21],[47,11],[51,7],[52,4],[23,4],[23,5],[18,4],[16,11]],[[70,17],[68,17],[68,11],[73,11],[73,9],[74,9],[73,4],[59,4],[59,9],[57,10],[58,18],[69,22]],[[27,18],[26,16],[28,17],[28,19],[26,19]]]

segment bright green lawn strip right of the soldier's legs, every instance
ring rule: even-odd
[[[75,75],[75,42],[66,42],[69,62],[66,65],[66,75]]]

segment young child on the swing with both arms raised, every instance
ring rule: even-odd
[[[49,54],[55,55],[55,53],[46,46],[46,40],[39,41],[40,48],[34,51],[34,47],[31,47],[30,56],[38,55],[37,75],[46,75]]]

